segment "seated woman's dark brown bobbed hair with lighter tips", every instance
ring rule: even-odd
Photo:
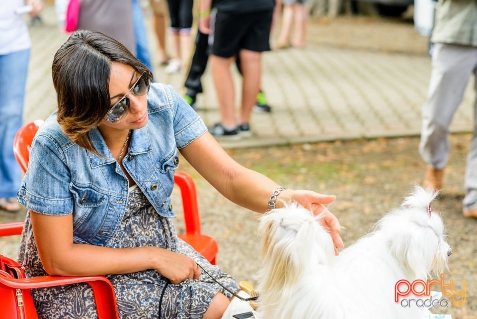
[[[111,62],[120,62],[143,74],[149,86],[151,71],[124,45],[109,36],[77,30],[58,49],[51,67],[58,100],[58,123],[79,146],[97,154],[88,131],[96,127],[110,109]]]

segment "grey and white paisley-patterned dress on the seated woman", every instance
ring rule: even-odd
[[[162,217],[151,206],[138,187],[130,189],[126,213],[121,225],[107,245],[113,248],[158,246],[188,255],[231,291],[238,284],[219,267],[211,265],[189,244],[177,237],[170,218]],[[20,242],[20,262],[28,276],[46,275],[27,216]],[[199,280],[188,279],[174,285],[155,270],[106,276],[114,286],[121,319],[199,319],[209,308],[214,296],[224,291],[205,272]],[[36,289],[32,291],[40,319],[94,319],[96,308],[87,284]],[[161,302],[159,302],[161,301]]]

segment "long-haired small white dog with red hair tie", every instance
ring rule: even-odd
[[[334,255],[331,236],[317,222],[319,216],[296,204],[265,214],[259,224],[262,265],[257,318],[422,319],[428,315],[427,307],[403,307],[395,297],[399,280],[425,283],[447,269],[452,250],[441,217],[431,212],[436,196],[416,186],[399,208],[377,222],[373,232],[339,256]],[[424,286],[413,288],[421,291]]]

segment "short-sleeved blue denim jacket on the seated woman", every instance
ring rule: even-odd
[[[172,88],[162,84],[151,85],[148,114],[148,123],[131,134],[123,166],[156,211],[174,217],[170,195],[179,164],[178,149],[207,128]],[[89,133],[95,149],[104,157],[70,140],[53,113],[33,140],[18,201],[36,213],[72,213],[74,242],[104,246],[125,213],[128,179],[99,130]]]

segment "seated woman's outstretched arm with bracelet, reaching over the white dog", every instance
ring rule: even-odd
[[[254,212],[267,211],[272,192],[278,187],[286,187],[286,185],[278,185],[268,177],[241,166],[224,151],[208,132],[182,148],[180,152],[199,174],[222,195]],[[313,210],[315,214],[323,213],[322,223],[329,227],[335,246],[343,247],[343,241],[339,236],[338,219],[324,206],[333,202],[335,196],[318,194],[313,191],[284,190],[276,202],[277,208],[283,206],[280,200],[296,201],[303,207]]]

